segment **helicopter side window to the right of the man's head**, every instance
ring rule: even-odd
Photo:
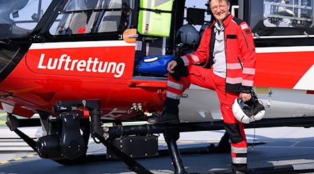
[[[314,0],[252,1],[250,25],[257,35],[313,35]],[[263,6],[264,8],[260,8]]]

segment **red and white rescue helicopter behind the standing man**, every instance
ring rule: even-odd
[[[312,127],[313,0],[231,2],[232,15],[251,26],[255,42],[254,90],[266,114],[254,126]],[[181,96],[180,125],[122,125],[163,111],[165,65],[197,49],[214,20],[207,1],[200,8],[188,0],[0,3],[0,109],[8,113],[8,127],[40,157],[76,164],[91,136],[132,171],[147,172],[128,151],[155,156],[154,134],[164,133],[180,171],[179,132],[223,129],[216,93],[193,85]],[[293,15],[279,13],[281,8]],[[183,26],[191,31],[184,33]],[[33,141],[18,129],[26,126],[42,126],[45,135]],[[154,148],[117,148],[130,140]]]

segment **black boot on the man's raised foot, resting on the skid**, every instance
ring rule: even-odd
[[[149,118],[147,122],[154,124],[179,124],[179,103],[180,100],[167,97],[163,113],[161,113],[159,117]]]

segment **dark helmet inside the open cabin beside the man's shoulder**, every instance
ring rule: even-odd
[[[193,45],[197,44],[200,40],[200,34],[197,32],[194,26],[186,24],[181,26],[181,28],[178,30],[177,39],[188,45]]]

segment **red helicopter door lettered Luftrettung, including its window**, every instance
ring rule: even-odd
[[[39,74],[131,79],[135,42],[126,41],[130,0],[68,0],[49,29],[51,42],[34,43],[28,67]]]

